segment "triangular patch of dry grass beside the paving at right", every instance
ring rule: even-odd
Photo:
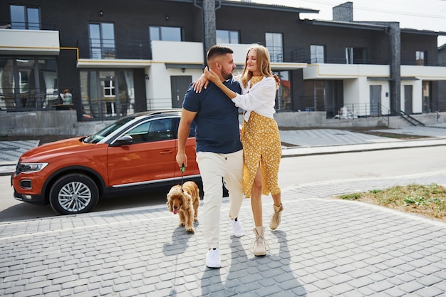
[[[374,189],[364,193],[345,194],[336,198],[377,204],[446,222],[446,188],[438,184],[409,184],[384,190]]]

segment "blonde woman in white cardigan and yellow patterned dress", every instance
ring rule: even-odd
[[[213,71],[206,68],[204,75],[222,89],[235,105],[245,110],[242,127],[244,192],[247,198],[251,197],[256,235],[254,255],[264,256],[266,241],[261,194],[271,193],[274,200],[274,214],[269,224],[271,229],[279,226],[284,210],[278,183],[281,142],[279,128],[273,118],[276,112],[276,80],[271,72],[269,52],[264,46],[249,48],[240,78],[242,95],[229,90]]]

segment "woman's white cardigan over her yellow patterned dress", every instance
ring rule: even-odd
[[[251,80],[248,87],[244,88],[242,83],[242,95],[237,94],[232,102],[239,108],[246,110],[244,120],[249,120],[251,111],[263,115],[266,118],[273,118],[276,110],[274,109],[276,101],[276,80],[272,77],[264,77],[259,83],[251,88]]]

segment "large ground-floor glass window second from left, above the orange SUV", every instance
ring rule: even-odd
[[[134,113],[133,71],[81,71],[81,95],[85,120],[120,118]]]

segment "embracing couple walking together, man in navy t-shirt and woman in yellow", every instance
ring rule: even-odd
[[[195,121],[197,163],[204,190],[206,266],[210,268],[221,266],[218,246],[222,178],[229,191],[229,218],[234,236],[244,235],[242,223],[237,218],[243,194],[251,198],[256,236],[254,255],[266,254],[261,194],[271,192],[274,200],[271,229],[279,226],[284,209],[278,184],[281,142],[279,128],[273,119],[276,81],[269,64],[269,53],[264,46],[249,48],[239,81],[232,77],[236,68],[232,53],[226,46],[209,48],[209,68],[204,70],[198,83],[187,90],[178,128],[176,159],[181,167],[182,164],[187,166],[185,145],[190,125]],[[201,90],[203,84],[205,87]],[[238,108],[245,110],[242,137]]]

